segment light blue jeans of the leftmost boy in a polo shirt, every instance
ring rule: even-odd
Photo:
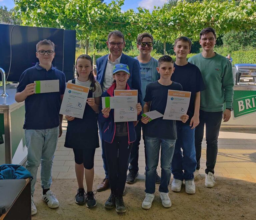
[[[25,129],[28,157],[26,169],[32,174],[31,195],[35,191],[36,175],[41,163],[41,186],[48,189],[52,183],[52,165],[56,150],[59,127],[45,130]]]

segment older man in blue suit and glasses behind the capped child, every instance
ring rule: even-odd
[[[140,80],[140,64],[137,59],[123,54],[123,49],[125,47],[124,35],[120,31],[112,31],[108,34],[107,47],[110,54],[102,56],[97,59],[97,81],[100,83],[102,92],[106,91],[113,82],[113,67],[116,64],[123,63],[129,66],[130,78],[127,83],[133,89],[138,90],[138,96],[140,100],[141,95],[141,80]],[[101,123],[99,124],[99,131],[101,137]],[[138,134],[141,135],[141,134]],[[109,188],[108,180],[108,167],[106,162],[106,154],[104,149],[104,143],[102,143],[102,159],[103,167],[105,170],[106,177],[98,185],[97,191],[101,192]],[[127,165],[128,166],[128,165]]]

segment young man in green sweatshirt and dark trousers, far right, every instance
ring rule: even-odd
[[[233,74],[229,60],[215,53],[216,34],[213,28],[205,28],[200,32],[202,53],[188,59],[198,66],[202,73],[206,90],[201,92],[199,125],[195,130],[195,147],[197,168],[194,176],[199,174],[204,125],[206,126],[206,169],[205,186],[215,184],[214,167],[218,153],[218,136],[222,120],[227,122],[231,117],[233,103]],[[226,109],[223,112],[223,105]]]

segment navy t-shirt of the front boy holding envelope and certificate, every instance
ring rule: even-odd
[[[151,101],[150,111],[157,110],[161,114],[164,114],[168,89],[183,90],[181,84],[176,82],[172,82],[171,85],[161,85],[158,81],[155,81],[147,85],[144,101]],[[174,120],[165,120],[162,117],[154,119],[145,125],[145,136],[176,140],[176,123]]]

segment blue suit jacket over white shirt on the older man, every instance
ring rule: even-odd
[[[108,62],[108,55],[102,56],[97,59],[97,81],[100,83],[101,88],[104,81],[105,70]],[[130,78],[128,79],[128,85],[138,90],[138,99],[142,100],[141,95],[141,80],[140,80],[140,63],[137,59],[122,54],[120,63],[127,64],[129,66]]]

